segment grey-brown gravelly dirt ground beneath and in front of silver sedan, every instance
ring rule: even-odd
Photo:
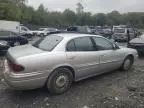
[[[73,83],[57,96],[45,88],[14,91],[0,83],[0,108],[144,108],[144,57],[128,72],[117,70]]]

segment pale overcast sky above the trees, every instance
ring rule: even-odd
[[[28,5],[35,9],[43,4],[49,11],[63,11],[67,8],[76,10],[81,0],[28,0]],[[108,13],[117,10],[121,13],[144,12],[144,0],[82,0],[84,11]]]

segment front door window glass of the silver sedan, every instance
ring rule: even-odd
[[[93,37],[94,42],[96,43],[97,50],[112,50],[113,45],[108,40],[100,37]]]

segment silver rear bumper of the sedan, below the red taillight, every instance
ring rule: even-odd
[[[11,89],[29,90],[43,87],[46,80],[47,76],[43,77],[39,72],[15,74],[5,67],[1,82]]]

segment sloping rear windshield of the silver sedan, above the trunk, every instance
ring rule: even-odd
[[[63,37],[50,35],[36,41],[33,46],[45,51],[52,51],[61,41]]]

